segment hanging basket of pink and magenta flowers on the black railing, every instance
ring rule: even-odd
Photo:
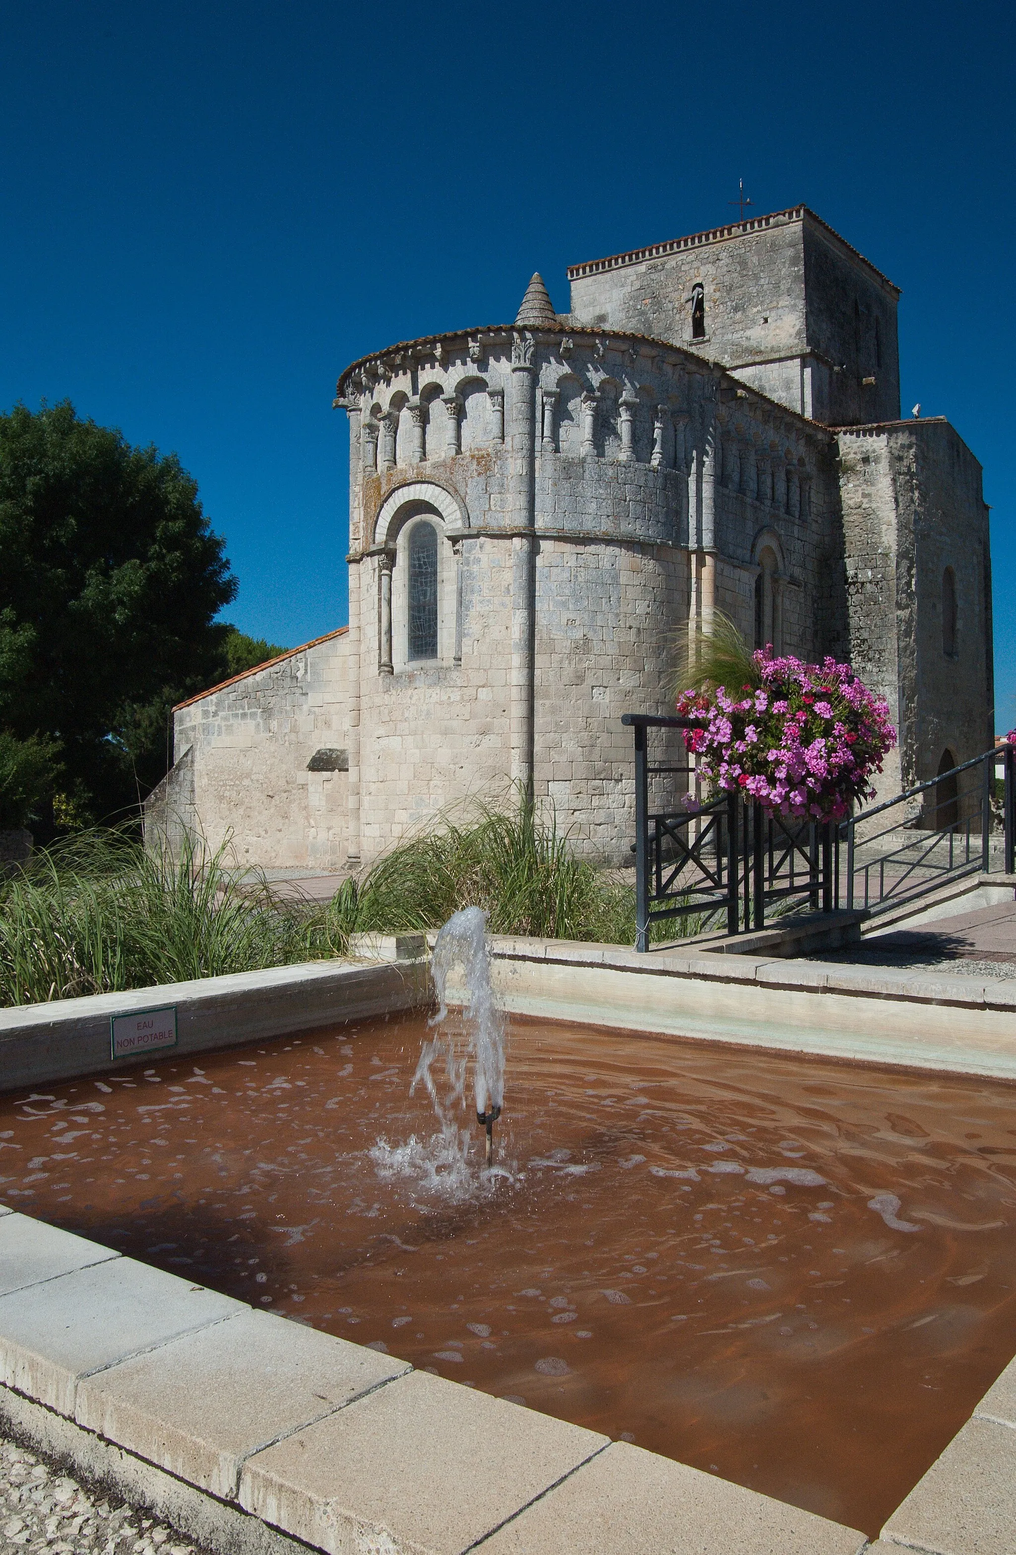
[[[699,773],[770,815],[842,819],[853,799],[871,798],[870,779],[896,743],[888,704],[850,664],[804,664],[772,648],[750,655],[733,625],[723,627],[728,684],[700,664],[699,686],[677,698],[680,715],[705,723],[686,736]]]

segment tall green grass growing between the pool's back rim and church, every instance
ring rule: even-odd
[[[240,871],[227,843],[212,852],[190,837],[177,855],[148,854],[123,832],[93,830],[0,883],[0,1005],[341,956],[358,931],[436,930],[461,907],[482,907],[498,935],[635,939],[632,888],[577,858],[552,809],[524,795],[439,818],[325,905]]]

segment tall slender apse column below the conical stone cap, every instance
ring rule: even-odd
[[[534,791],[535,714],[535,344],[517,331],[512,342],[512,420],[509,428],[512,526],[512,781]]]

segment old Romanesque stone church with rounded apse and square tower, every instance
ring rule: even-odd
[[[713,610],[887,698],[884,795],[990,748],[982,471],[901,420],[899,289],[804,205],[568,280],[342,372],[349,627],[176,709],[151,826],[358,869],[515,782],[625,861],[621,715],[672,711]]]

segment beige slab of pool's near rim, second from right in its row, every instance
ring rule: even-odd
[[[252,1457],[240,1504],[328,1555],[459,1555],[607,1440],[412,1372]]]

